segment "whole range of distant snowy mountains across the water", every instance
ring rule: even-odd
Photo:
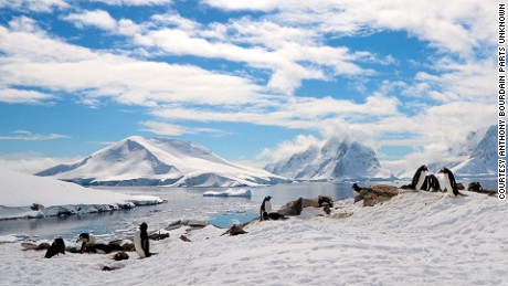
[[[431,162],[437,171],[451,168],[457,177],[497,176],[497,126],[473,133],[451,151],[457,161]],[[457,156],[458,155],[458,156]],[[408,170],[404,173],[413,173]],[[35,173],[83,186],[256,187],[292,180],[390,180],[375,152],[358,141],[329,139],[265,170],[240,166],[186,140],[128,137],[81,161],[59,165]],[[401,177],[401,176],[400,176]],[[405,178],[405,176],[402,176]]]

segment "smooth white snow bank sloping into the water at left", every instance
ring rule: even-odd
[[[151,195],[126,195],[78,184],[0,169],[0,219],[86,213],[161,203]],[[42,205],[39,211],[31,205]]]

